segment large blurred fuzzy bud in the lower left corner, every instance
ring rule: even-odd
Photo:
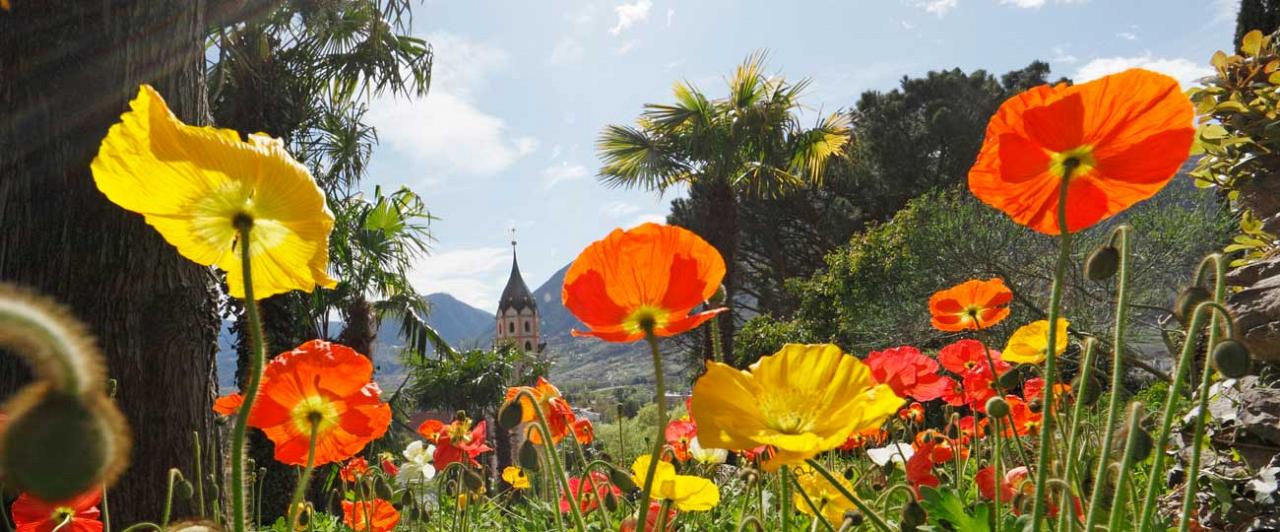
[[[70,396],[35,384],[4,411],[10,419],[0,435],[0,471],[20,491],[67,500],[110,485],[128,463],[124,418],[101,393]]]

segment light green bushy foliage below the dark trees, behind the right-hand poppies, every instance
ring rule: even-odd
[[[1106,338],[1114,295],[1106,284],[1087,281],[1079,266],[1083,257],[1119,223],[1135,228],[1132,320],[1147,334],[1134,344],[1160,345],[1169,324],[1165,311],[1198,257],[1220,246],[1228,221],[1211,193],[1198,192],[1180,179],[1155,198],[1088,231],[1080,233],[1068,274],[1066,317],[1076,334],[1097,332]],[[963,238],[960,238],[963,235]],[[827,270],[809,279],[796,279],[790,289],[800,298],[796,326],[818,340],[865,352],[895,345],[900,339],[941,345],[951,335],[934,331],[924,301],[938,286],[972,278],[1000,276],[1014,290],[1012,316],[996,329],[1044,317],[1039,294],[1047,290],[1044,276],[1053,243],[1006,219],[997,211],[957,191],[924,194],[908,203],[892,220],[855,235],[847,247],[827,256]],[[1138,327],[1134,327],[1135,330]],[[1001,345],[996,345],[1001,348]]]

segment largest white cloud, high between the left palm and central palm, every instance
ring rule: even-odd
[[[410,159],[428,182],[493,175],[535,151],[535,138],[511,132],[506,120],[480,109],[474,96],[507,66],[507,52],[449,33],[431,35],[428,41],[435,49],[431,93],[375,100],[369,119],[379,139]]]

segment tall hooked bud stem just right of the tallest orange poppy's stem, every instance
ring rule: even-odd
[[[1129,233],[1133,229],[1128,225],[1116,228],[1112,233],[1112,243],[1119,240],[1120,265],[1116,270],[1116,322],[1115,336],[1111,340],[1111,399],[1107,402],[1106,430],[1102,436],[1102,450],[1098,453],[1098,468],[1093,474],[1093,492],[1089,495],[1089,510],[1085,513],[1084,529],[1092,531],[1093,524],[1102,518],[1102,480],[1107,477],[1112,441],[1115,440],[1116,423],[1120,422],[1120,390],[1124,387],[1124,350],[1125,322],[1129,317]]]

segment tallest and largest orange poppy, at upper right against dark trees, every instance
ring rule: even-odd
[[[969,189],[1014,221],[1060,234],[1085,229],[1160,192],[1190,153],[1196,111],[1178,82],[1129,69],[1088,83],[1039,86],[1005,101],[987,124]]]

